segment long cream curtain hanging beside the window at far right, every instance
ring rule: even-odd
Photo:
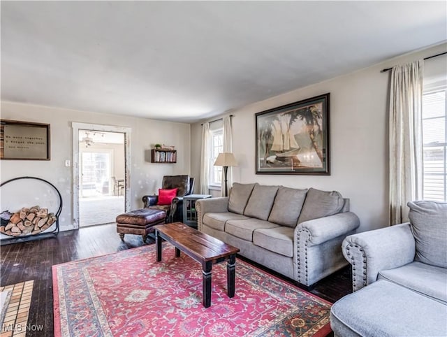
[[[390,84],[390,224],[408,222],[406,203],[423,182],[423,60],[393,67]]]

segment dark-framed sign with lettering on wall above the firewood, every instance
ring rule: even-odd
[[[0,159],[50,160],[50,124],[0,120]]]

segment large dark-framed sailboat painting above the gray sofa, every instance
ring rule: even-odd
[[[256,174],[330,175],[329,98],[256,113]]]

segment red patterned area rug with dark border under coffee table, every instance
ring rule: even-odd
[[[202,268],[155,245],[53,266],[54,336],[326,336],[331,304],[240,259],[235,296],[226,263],[212,266],[210,308]]]

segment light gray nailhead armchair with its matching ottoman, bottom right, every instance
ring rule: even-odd
[[[353,294],[331,308],[335,336],[447,336],[447,203],[408,203],[410,223],[348,236]]]

